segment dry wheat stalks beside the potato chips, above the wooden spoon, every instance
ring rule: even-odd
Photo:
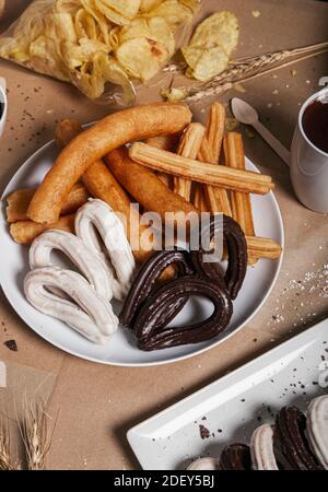
[[[187,94],[185,97],[187,103],[196,103],[202,97],[222,94],[223,92],[231,90],[236,82],[247,82],[249,80],[254,80],[258,77],[270,73],[273,70],[285,68],[290,65],[327,51],[328,42],[325,42],[305,46],[303,48],[273,51],[271,54],[265,54],[258,57],[247,57],[231,62],[226,70],[211,79],[209,82],[191,87],[183,86],[175,89]],[[290,60],[290,58],[294,59]],[[172,66],[166,67],[166,69],[164,70],[174,72]]]

